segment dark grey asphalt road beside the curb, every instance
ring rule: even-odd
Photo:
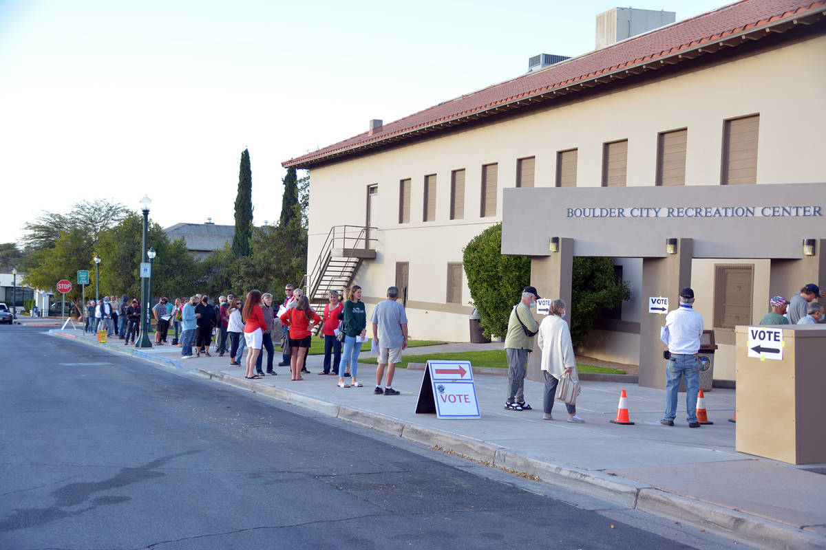
[[[0,358],[0,548],[690,548],[673,522],[42,328],[3,327]]]

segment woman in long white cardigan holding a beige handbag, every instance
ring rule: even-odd
[[[577,376],[577,360],[573,355],[571,330],[567,326],[565,317],[565,302],[556,299],[548,308],[548,317],[539,324],[537,344],[542,350],[542,370],[545,375],[545,392],[543,398],[544,415],[542,419],[552,421],[553,399],[556,397],[557,384],[563,374],[569,374],[571,379],[579,382]],[[565,405],[568,412],[568,422],[584,422],[577,416],[575,405]]]

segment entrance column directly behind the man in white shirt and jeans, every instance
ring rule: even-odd
[[[648,388],[666,387],[665,360],[660,341],[660,328],[665,326],[665,315],[648,313],[648,299],[668,299],[668,310],[678,308],[680,289],[691,286],[691,258],[693,246],[690,238],[677,241],[676,254],[661,258],[643,258],[643,284],[640,302],[643,312],[639,323],[639,385]],[[664,245],[663,245],[664,246]],[[714,299],[712,289],[694,289],[697,302],[710,303]]]

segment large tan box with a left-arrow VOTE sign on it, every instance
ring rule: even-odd
[[[790,464],[826,463],[826,327],[737,327],[736,448]]]

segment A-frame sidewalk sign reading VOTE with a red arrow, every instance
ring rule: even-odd
[[[437,418],[480,418],[470,361],[428,361],[415,411],[435,412]]]

